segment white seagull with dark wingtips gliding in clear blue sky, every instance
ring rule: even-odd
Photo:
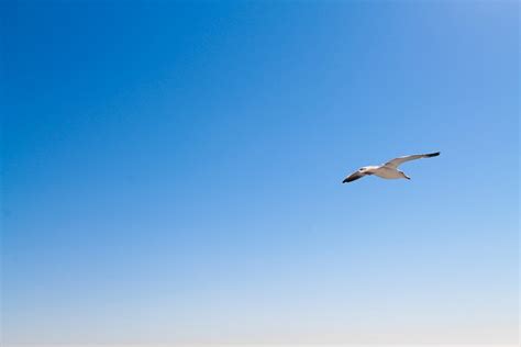
[[[386,179],[397,179],[397,178],[411,179],[409,176],[398,170],[398,166],[400,166],[401,164],[406,161],[421,159],[421,158],[432,158],[432,157],[437,157],[439,155],[440,155],[440,152],[429,153],[429,154],[414,154],[411,156],[395,158],[380,166],[364,166],[359,168],[358,170],[356,170],[355,172],[347,176],[342,181],[342,183],[353,182],[354,180],[357,180],[358,178],[363,178],[364,176],[370,176],[370,175],[376,175],[378,177],[386,178]]]

